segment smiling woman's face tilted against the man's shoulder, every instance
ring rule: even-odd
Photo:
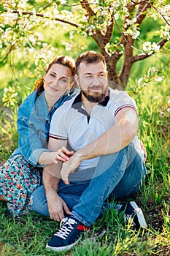
[[[53,64],[44,77],[45,93],[52,97],[61,97],[71,88],[72,72],[69,67]]]

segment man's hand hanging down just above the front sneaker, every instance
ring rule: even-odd
[[[50,218],[57,222],[61,222],[61,219],[65,218],[63,211],[71,215],[68,206],[57,193],[47,196],[47,206]]]

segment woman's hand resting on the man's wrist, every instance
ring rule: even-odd
[[[61,162],[66,162],[69,160],[69,157],[72,157],[74,151],[69,151],[66,147],[62,146],[58,151],[53,152],[53,162],[58,163],[58,160]]]

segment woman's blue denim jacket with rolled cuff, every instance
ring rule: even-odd
[[[63,105],[68,99],[72,99],[78,89],[64,94],[58,99],[53,108],[48,112],[45,91],[37,97],[37,91],[32,92],[18,108],[18,148],[15,149],[11,157],[23,155],[23,157],[33,166],[39,165],[38,159],[43,151],[49,151],[47,147],[50,121],[55,110]]]

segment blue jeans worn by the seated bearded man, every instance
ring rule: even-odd
[[[107,198],[123,198],[133,195],[142,184],[146,169],[134,144],[130,143],[115,154],[102,156],[90,181],[60,182],[58,195],[66,202],[72,216],[89,226],[101,214]],[[44,187],[33,194],[32,208],[39,214],[49,216]]]

